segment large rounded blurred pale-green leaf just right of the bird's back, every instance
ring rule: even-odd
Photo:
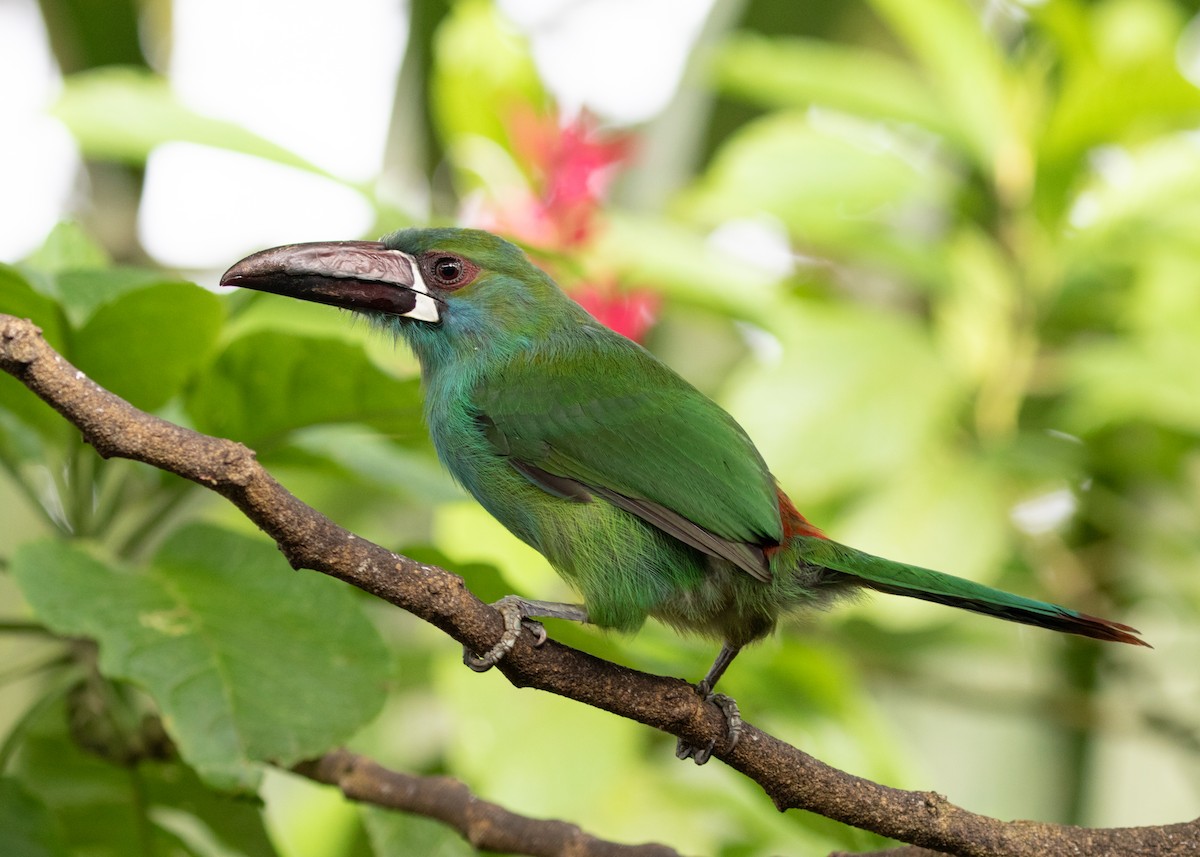
[[[782,359],[749,364],[731,412],[793,497],[886,480],[952,430],[955,376],[913,322],[857,307],[781,310]]]

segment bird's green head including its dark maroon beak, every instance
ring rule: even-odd
[[[479,229],[272,247],[235,264],[221,284],[361,313],[407,340],[422,364],[521,348],[557,323],[588,319],[520,248]]]

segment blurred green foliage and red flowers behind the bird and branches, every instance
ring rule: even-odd
[[[722,684],[754,723],[1000,817],[1194,815],[1192,4],[718,0],[670,103],[619,126],[556,103],[502,8],[412,0],[368,180],[178,97],[167,0],[41,11],[64,76],[50,113],[84,162],[74,221],[0,265],[0,311],[98,383],[251,445],[308,503],[485,599],[569,599],[439,471],[406,353],[325,307],[216,295],[214,272],[151,258],[137,221],[148,157],[182,142],[344,186],[366,235],[504,232],[728,407],[833,537],[1156,646],[880,597],[744,653]],[[354,133],[336,104],[313,121]],[[278,242],[305,238],[358,235]],[[287,571],[220,498],[98,460],[6,377],[0,465],[4,853],[470,852],[264,765],[341,742],[622,841],[878,845],[779,815],[719,763],[679,765],[665,736],[464,670],[431,628]],[[550,630],[691,678],[714,652],[659,627]]]

